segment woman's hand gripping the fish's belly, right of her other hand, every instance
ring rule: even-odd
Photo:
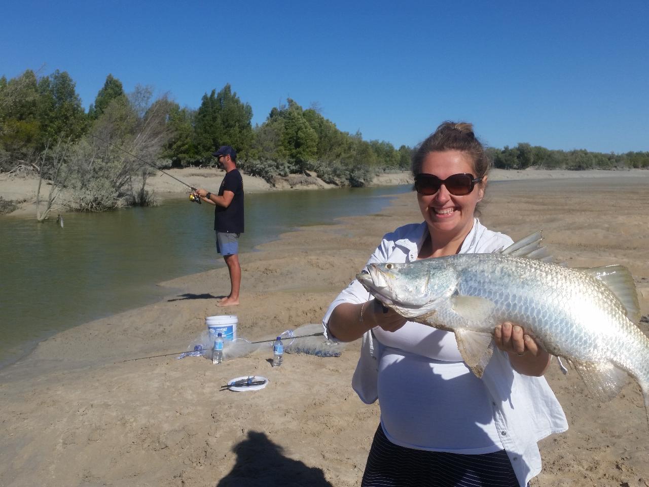
[[[509,362],[518,373],[541,376],[550,364],[550,354],[535,342],[522,327],[505,321],[493,334],[496,347],[509,354]]]

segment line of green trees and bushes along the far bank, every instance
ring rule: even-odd
[[[79,210],[147,205],[152,169],[142,160],[159,168],[212,165],[219,145],[235,147],[239,168],[269,182],[313,171],[339,186],[363,186],[376,173],[409,169],[412,151],[341,131],[317,107],[304,109],[293,99],[253,127],[251,105],[230,84],[204,94],[193,109],[169,95],[154,99],[150,86],[127,94],[109,74],[86,111],[66,71],[38,76],[28,69],[0,78],[0,171],[38,171],[71,190]],[[504,169],[649,168],[646,152],[552,151],[521,143],[489,153]]]

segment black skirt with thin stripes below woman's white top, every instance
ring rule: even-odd
[[[378,425],[361,487],[519,487],[504,450],[458,455],[391,443]]]

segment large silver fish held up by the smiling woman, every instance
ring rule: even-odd
[[[642,389],[649,421],[649,339],[635,325],[640,306],[630,272],[554,264],[540,242],[537,232],[496,253],[369,264],[369,273],[356,277],[405,318],[454,332],[478,377],[496,325],[511,321],[565,358],[602,398],[615,397],[628,373]]]

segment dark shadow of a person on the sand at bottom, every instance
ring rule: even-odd
[[[234,445],[237,461],[216,487],[332,487],[322,469],[308,467],[283,455],[283,449],[265,433],[248,432],[248,438]]]

